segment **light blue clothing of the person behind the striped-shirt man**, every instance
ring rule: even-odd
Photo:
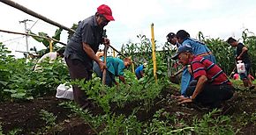
[[[210,49],[202,42],[196,39],[187,38],[184,39],[184,42],[181,44],[182,46],[192,46],[193,54],[199,55],[201,53],[209,53],[211,52]],[[205,59],[210,60],[214,63],[216,63],[215,56],[213,54],[209,54],[206,56],[203,56]],[[187,68],[184,68],[184,71],[182,73],[181,78],[181,95],[184,96],[186,89],[188,88],[190,82],[193,80],[192,75],[189,73]]]

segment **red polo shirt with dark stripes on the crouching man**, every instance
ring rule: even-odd
[[[192,60],[192,74],[195,79],[198,79],[201,75],[205,75],[207,76],[207,82],[214,85],[231,85],[222,68],[200,56],[194,57]]]

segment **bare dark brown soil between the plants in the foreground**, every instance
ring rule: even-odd
[[[175,92],[173,92],[175,91]],[[208,110],[196,107],[192,104],[178,105],[177,102],[171,98],[171,94],[177,94],[175,89],[165,89],[162,96],[154,100],[154,107],[149,112],[139,111],[137,117],[140,121],[146,121],[153,117],[156,110],[164,108],[170,115],[179,114],[178,118],[184,121],[192,122],[192,117],[202,117]],[[252,114],[255,117],[256,104],[255,91],[238,91],[230,101],[222,106],[222,114],[232,117],[232,126],[234,129],[240,129],[237,134],[256,134],[256,122],[246,121],[245,119],[237,121],[235,117],[248,116],[251,118]],[[15,129],[22,129],[19,134],[94,134],[94,131],[84,122],[83,119],[72,113],[71,110],[60,106],[59,103],[67,102],[68,100],[57,99],[55,96],[44,96],[26,102],[4,102],[0,104],[0,122],[2,123],[2,130],[4,134]],[[112,111],[117,114],[129,115],[132,109],[138,103],[126,104],[123,109],[112,105]],[[56,116],[56,125],[46,129],[46,123],[41,119],[40,111],[47,110]],[[94,108],[94,112],[99,112],[100,109]],[[255,119],[254,119],[255,120]],[[244,124],[245,123],[245,124]],[[0,133],[1,134],[1,133]]]

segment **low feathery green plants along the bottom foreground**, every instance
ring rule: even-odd
[[[88,110],[81,110],[74,103],[63,103],[83,118],[94,134],[235,134],[229,116],[219,115],[220,110],[212,110],[203,117],[191,117],[192,123],[165,109],[157,110],[148,121],[139,121],[135,108],[132,114],[125,116],[116,113],[93,115]],[[238,130],[237,130],[238,131]]]

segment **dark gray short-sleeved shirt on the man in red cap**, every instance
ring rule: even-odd
[[[92,68],[92,59],[84,51],[82,43],[87,43],[96,53],[102,43],[102,33],[103,28],[97,25],[95,16],[86,18],[79,23],[72,39],[68,42],[64,57],[81,60],[87,65],[87,68]]]

